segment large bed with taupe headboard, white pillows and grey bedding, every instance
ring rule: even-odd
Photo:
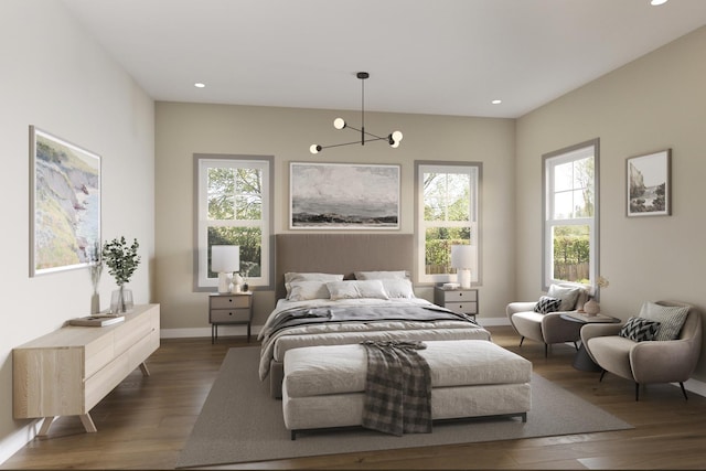
[[[275,246],[278,301],[258,336],[259,375],[263,381],[269,378],[272,397],[281,397],[282,362],[292,349],[371,339],[491,340],[490,332],[470,318],[436,307],[414,291],[409,296],[415,253],[411,234],[278,234]],[[315,274],[336,278],[317,279]],[[352,280],[360,282],[344,282]],[[291,296],[292,283],[298,283],[295,288],[301,296]],[[379,295],[381,285],[385,293],[396,295]],[[336,296],[323,291],[329,288]],[[405,312],[414,315],[407,318]]]

